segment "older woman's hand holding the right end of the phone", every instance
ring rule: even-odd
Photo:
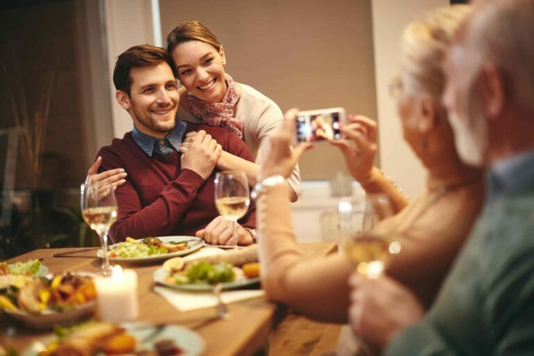
[[[348,171],[357,181],[371,178],[371,170],[378,147],[376,122],[365,116],[348,115],[350,124],[341,127],[343,138],[333,140],[332,145],[341,149]]]

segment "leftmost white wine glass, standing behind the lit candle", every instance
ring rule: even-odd
[[[88,181],[82,184],[81,214],[87,225],[97,232],[104,252],[104,261],[100,268],[100,275],[110,276],[112,272],[108,257],[108,232],[117,220],[117,200],[113,185],[99,181]]]

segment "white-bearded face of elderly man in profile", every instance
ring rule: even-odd
[[[483,165],[487,149],[487,118],[476,90],[479,65],[459,44],[451,47],[446,61],[443,103],[454,130],[456,150],[467,164]]]

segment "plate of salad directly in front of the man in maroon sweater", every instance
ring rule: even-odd
[[[109,246],[108,257],[113,262],[162,261],[190,254],[203,245],[202,238],[195,236],[147,237],[140,240],[127,237],[126,241]],[[104,258],[104,250],[98,250],[97,256]]]

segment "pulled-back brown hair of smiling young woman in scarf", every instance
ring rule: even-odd
[[[172,54],[172,51],[179,44],[195,40],[210,44],[217,51],[220,50],[220,47],[223,47],[216,35],[204,26],[204,24],[198,21],[189,21],[184,24],[179,24],[175,29],[170,31],[167,36],[167,51]]]

